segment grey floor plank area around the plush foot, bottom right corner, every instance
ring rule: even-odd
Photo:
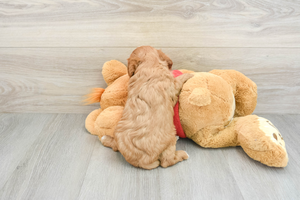
[[[300,115],[260,115],[270,120],[286,144],[285,168],[268,167],[250,158],[242,147],[222,148],[244,199],[300,198]]]

